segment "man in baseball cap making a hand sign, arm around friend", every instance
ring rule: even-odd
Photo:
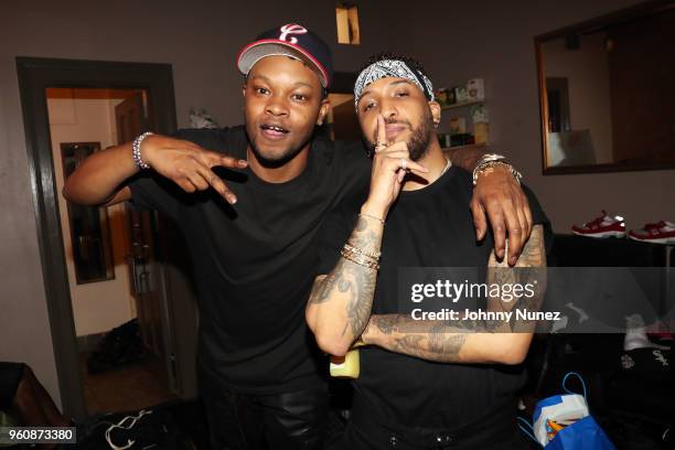
[[[64,195],[89,205],[129,200],[162,211],[185,235],[215,449],[321,448],[326,362],[304,322],[317,235],[326,213],[367,182],[371,163],[361,142],[314,135],[332,76],[330,49],[315,34],[275,28],[244,47],[237,66],[244,126],[144,132],[89,157]],[[490,216],[497,248],[507,228],[515,257],[532,223],[526,200],[507,165],[479,172],[478,235]]]

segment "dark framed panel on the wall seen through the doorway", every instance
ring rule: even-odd
[[[64,179],[92,153],[100,149],[99,142],[64,142],[61,159]],[[73,262],[77,285],[115,278],[108,208],[67,202]]]

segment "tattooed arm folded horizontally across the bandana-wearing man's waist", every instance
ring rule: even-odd
[[[535,283],[535,294],[517,301],[488,299],[489,311],[538,311],[546,288],[542,225],[535,226],[516,268],[489,261],[488,283]],[[444,363],[519,364],[527,355],[535,321],[420,321],[406,314],[372,315],[362,340],[392,352]]]

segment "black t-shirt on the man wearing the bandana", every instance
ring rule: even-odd
[[[537,200],[528,195],[535,224],[547,223]],[[473,186],[467,172],[450,168],[435,183],[403,191],[392,206],[382,242],[374,314],[410,313],[399,297],[401,269],[479,268],[485,272],[493,248],[489,235],[476,243],[469,207]],[[320,234],[320,274],[330,272],[352,234],[367,191],[345,201],[326,218]],[[452,308],[452,303],[444,304]],[[462,311],[462,309],[459,309]],[[408,427],[458,429],[503,407],[524,383],[521,366],[443,364],[381,347],[360,349],[361,374],[354,387],[361,404],[384,420]]]

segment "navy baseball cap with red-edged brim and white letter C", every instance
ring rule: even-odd
[[[331,49],[317,34],[297,23],[287,23],[266,31],[246,45],[237,56],[237,67],[244,75],[266,56],[285,55],[304,62],[328,89],[333,76]]]

